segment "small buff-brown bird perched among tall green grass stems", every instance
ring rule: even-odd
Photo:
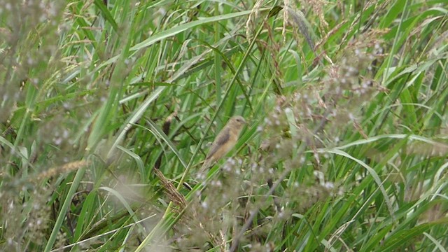
[[[211,144],[209,153],[205,158],[199,174],[203,174],[214,162],[223,158],[225,154],[232,150],[235,144],[237,144],[239,133],[241,133],[245,123],[246,120],[242,116],[233,116],[230,118],[228,123],[223,127],[223,130],[216,136],[213,144]]]

